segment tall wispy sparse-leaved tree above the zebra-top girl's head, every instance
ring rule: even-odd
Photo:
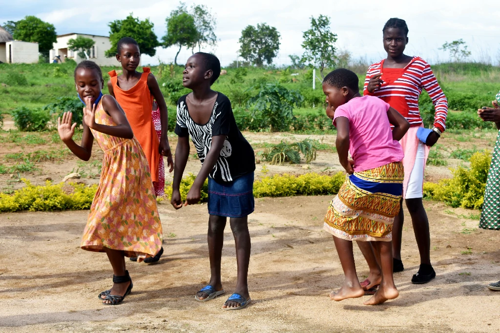
[[[217,36],[215,35],[217,22],[210,9],[204,4],[193,4],[190,14],[194,18],[194,26],[197,32],[196,42],[191,45],[191,52],[194,53],[196,45],[198,46],[198,51],[201,50],[201,45],[203,44],[215,46],[217,44]]]

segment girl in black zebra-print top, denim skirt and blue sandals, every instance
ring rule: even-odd
[[[236,126],[229,99],[211,89],[219,75],[220,62],[215,55],[197,52],[187,59],[182,85],[192,92],[177,101],[175,133],[178,140],[170,203],[175,209],[197,203],[201,198],[201,186],[208,177],[207,239],[211,275],[208,285],[196,293],[195,299],[207,301],[225,292],[220,278],[220,259],[224,227],[229,217],[238,273],[234,293],[222,309],[237,310],[251,301],[247,283],[251,247],[247,219],[255,206],[255,155]],[[179,187],[189,156],[188,136],[191,136],[202,165],[182,202]]]

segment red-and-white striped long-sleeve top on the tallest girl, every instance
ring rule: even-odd
[[[394,107],[403,115],[411,126],[417,126],[422,123],[422,118],[420,117],[420,111],[418,110],[418,97],[422,92],[422,88],[427,91],[432,104],[434,104],[435,114],[434,114],[434,126],[444,131],[446,125],[446,115],[448,114],[448,101],[444,95],[439,83],[430,69],[430,65],[425,62],[422,58],[415,56],[413,59],[404,67],[403,73],[399,78],[392,82],[386,82],[383,79],[383,71],[381,79],[384,81],[379,89],[375,89],[372,93],[366,90],[368,86],[368,81],[373,75],[380,73],[383,67],[383,61],[378,61],[373,63],[368,67],[366,72],[366,79],[364,80],[364,95],[377,96],[389,105],[390,101],[394,100],[397,96],[404,98],[407,108],[400,109],[401,107]],[[392,106],[392,105],[391,105]]]

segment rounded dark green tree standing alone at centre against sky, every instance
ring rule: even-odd
[[[248,25],[239,37],[239,55],[257,66],[262,66],[264,61],[270,64],[279,50],[280,37],[275,27],[265,23],[257,27]]]

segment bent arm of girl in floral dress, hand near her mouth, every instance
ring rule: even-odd
[[[116,99],[110,95],[102,96],[102,106],[104,111],[113,118],[116,126],[103,125],[95,122],[95,108],[96,105],[90,105],[90,98],[85,98],[85,107],[83,108],[83,120],[86,125],[98,132],[131,139],[133,138],[132,127],[128,123],[128,120],[125,116],[125,112],[118,105]]]

